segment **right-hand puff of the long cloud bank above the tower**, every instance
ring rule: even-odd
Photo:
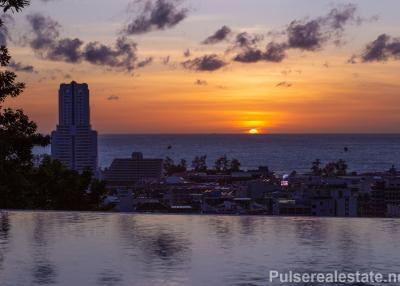
[[[120,37],[117,39],[115,47],[106,46],[99,42],[88,43],[84,48],[83,58],[94,65],[131,72],[137,61],[136,50],[136,43],[125,37]]]

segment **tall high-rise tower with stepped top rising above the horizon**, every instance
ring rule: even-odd
[[[59,123],[51,134],[51,156],[78,172],[90,168],[97,173],[97,132],[90,125],[86,83],[60,86]]]

